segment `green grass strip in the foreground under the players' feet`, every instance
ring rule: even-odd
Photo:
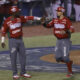
[[[19,80],[64,80],[66,73],[53,72],[28,72],[32,78],[20,78]],[[8,70],[0,70],[0,80],[13,80],[12,72]],[[75,74],[70,80],[80,80],[80,74]]]

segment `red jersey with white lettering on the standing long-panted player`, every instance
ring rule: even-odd
[[[22,32],[22,23],[27,22],[28,20],[33,20],[33,16],[20,16],[18,18],[12,19],[12,17],[8,17],[3,24],[2,27],[2,36],[5,36],[7,31],[10,33],[10,37],[18,38],[23,35]]]

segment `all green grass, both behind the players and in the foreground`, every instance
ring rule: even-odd
[[[80,33],[72,34],[72,44],[80,45]],[[33,47],[48,47],[55,46],[56,38],[53,35],[48,36],[37,36],[24,38],[24,44],[26,48]],[[8,50],[8,40],[6,40],[6,48],[0,51]],[[50,73],[50,72],[28,72],[32,75],[31,79],[20,78],[19,80],[64,80],[65,73]],[[12,72],[8,70],[0,70],[0,80],[13,80]],[[80,74],[75,74],[73,79],[69,80],[80,80]]]

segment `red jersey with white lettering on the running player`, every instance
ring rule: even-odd
[[[69,30],[74,32],[71,21],[66,17],[63,19],[53,19],[51,22],[49,22],[49,24],[47,24],[47,27],[53,27],[54,35],[59,39],[68,38],[69,34],[67,31]],[[60,31],[63,30],[66,32],[65,34],[60,33]]]

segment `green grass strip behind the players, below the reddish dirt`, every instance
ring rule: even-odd
[[[71,40],[73,45],[80,45],[80,33],[72,34]],[[54,35],[27,37],[24,38],[24,44],[26,48],[55,46],[56,38]],[[8,40],[6,40],[6,48],[0,46],[0,50],[8,50]]]

